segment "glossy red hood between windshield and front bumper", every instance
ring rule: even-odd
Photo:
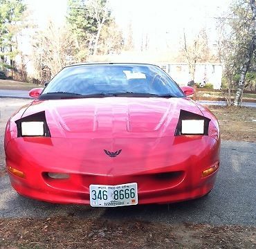
[[[174,136],[180,110],[202,115],[189,98],[35,100],[26,116],[45,111],[52,137]]]

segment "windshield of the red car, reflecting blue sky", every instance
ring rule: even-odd
[[[161,68],[144,64],[69,66],[46,86],[39,99],[86,97],[184,97]]]

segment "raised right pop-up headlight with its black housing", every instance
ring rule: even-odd
[[[209,118],[181,110],[175,136],[208,135]]]

